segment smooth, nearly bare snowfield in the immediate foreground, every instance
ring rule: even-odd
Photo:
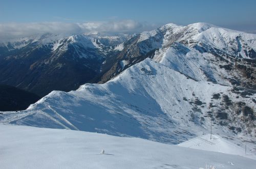
[[[82,131],[0,125],[1,168],[254,168],[238,155]],[[100,154],[101,150],[105,154]]]

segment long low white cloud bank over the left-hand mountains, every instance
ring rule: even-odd
[[[35,34],[137,33],[155,29],[156,25],[134,20],[92,21],[84,23],[30,22],[0,23],[0,41]]]

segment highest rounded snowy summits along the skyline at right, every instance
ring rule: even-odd
[[[162,35],[161,35],[162,34]],[[139,35],[138,42],[158,39],[152,45],[166,48],[174,42],[194,47],[201,52],[227,54],[233,58],[255,59],[256,35],[224,29],[208,23],[194,23],[187,26],[166,24],[151,32]],[[145,51],[148,50],[148,46]]]

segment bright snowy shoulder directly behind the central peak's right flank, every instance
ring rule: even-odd
[[[212,81],[222,85],[231,86],[228,79],[239,76],[236,71],[221,69],[220,66],[226,65],[227,62],[216,61],[214,54],[202,53],[181,43],[174,43],[169,48],[159,49],[155,52],[153,60],[197,80]],[[229,64],[234,65],[233,62]]]

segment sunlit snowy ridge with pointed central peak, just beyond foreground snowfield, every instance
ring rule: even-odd
[[[119,136],[135,136],[163,143],[177,144],[208,132],[214,118],[216,132],[241,137],[253,133],[250,115],[234,115],[223,100],[228,95],[233,104],[245,102],[255,108],[248,97],[237,98],[232,87],[197,81],[169,67],[146,59],[116,78],[102,84],[86,84],[69,93],[54,91],[21,112],[4,112],[0,123],[47,128],[66,128]],[[220,96],[213,99],[214,95]],[[224,119],[223,119],[224,118]],[[251,127],[252,125],[252,127]],[[253,136],[248,139],[253,139]],[[241,142],[241,140],[238,142]]]

